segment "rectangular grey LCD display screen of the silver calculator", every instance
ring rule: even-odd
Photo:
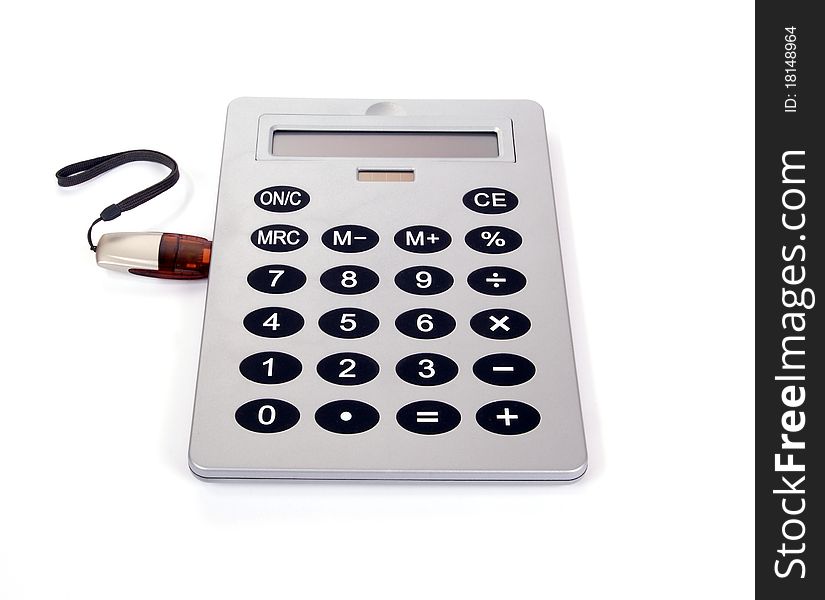
[[[496,158],[494,131],[276,130],[274,156],[363,158]]]

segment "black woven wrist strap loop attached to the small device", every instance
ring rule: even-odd
[[[92,221],[92,224],[89,226],[89,231],[86,233],[86,240],[89,242],[89,248],[92,252],[97,249],[97,246],[92,242],[92,228],[101,221],[111,221],[118,218],[127,210],[137,208],[144,202],[148,202],[175,185],[180,178],[178,163],[176,163],[171,156],[167,156],[162,152],[156,152],[155,150],[127,150],[125,152],[117,152],[115,154],[90,158],[89,160],[82,160],[67,165],[55,173],[57,185],[60,187],[71,187],[85,183],[98,175],[102,175],[107,171],[111,171],[130,162],[159,163],[168,167],[170,172],[169,175],[156,184],[132,194],[116,204],[110,204],[100,212],[100,217]]]

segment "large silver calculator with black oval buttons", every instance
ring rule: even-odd
[[[203,478],[584,473],[538,104],[229,105],[189,464]]]

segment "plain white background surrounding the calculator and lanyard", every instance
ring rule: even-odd
[[[2,56],[0,597],[753,593],[748,2],[13,2]],[[572,485],[204,483],[205,285],[86,228],[210,236],[236,96],[530,98],[551,135],[590,470]]]

